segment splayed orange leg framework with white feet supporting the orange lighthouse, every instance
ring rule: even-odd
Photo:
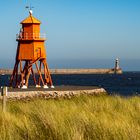
[[[39,67],[38,67],[38,61],[40,62]],[[43,63],[43,66],[44,66],[44,77],[41,74],[42,63]],[[36,77],[35,77],[33,67],[32,67],[33,64],[35,64],[37,72],[39,74],[38,85],[37,86],[39,87],[40,82],[41,82],[44,88],[48,88],[48,85],[50,85],[51,88],[54,88],[53,83],[52,83],[52,79],[51,79],[51,76],[50,76],[50,72],[48,70],[48,65],[47,65],[46,59],[41,59],[41,58],[38,58],[34,61],[26,60],[24,66],[23,66],[23,61],[22,60],[20,60],[20,61],[16,60],[14,70],[13,70],[12,76],[10,78],[10,86],[14,85],[15,87],[27,88],[28,83],[29,83],[29,77],[30,77],[31,73],[32,73],[32,76],[33,76],[34,83],[36,85],[37,81],[36,81]],[[20,78],[19,78],[19,74],[18,74],[18,67],[20,67],[19,68]]]

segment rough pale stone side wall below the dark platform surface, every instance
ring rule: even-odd
[[[95,88],[89,90],[67,90],[67,91],[18,91],[8,92],[7,99],[24,100],[33,98],[55,99],[55,98],[71,98],[79,95],[103,95],[106,94],[105,89]],[[0,99],[3,97],[0,96]]]

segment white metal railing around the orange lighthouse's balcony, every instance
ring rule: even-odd
[[[45,33],[19,33],[16,34],[16,39],[46,39]]]

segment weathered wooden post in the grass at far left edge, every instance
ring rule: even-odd
[[[3,112],[6,112],[7,87],[2,87],[1,95],[3,96],[2,110],[3,110]]]

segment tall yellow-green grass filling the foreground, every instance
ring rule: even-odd
[[[140,97],[8,102],[0,114],[0,139],[139,140]]]

